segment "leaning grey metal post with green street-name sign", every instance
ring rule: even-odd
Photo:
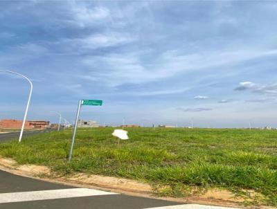
[[[82,105],[102,106],[102,102],[103,102],[102,100],[79,100],[76,119],[75,119],[75,126],[74,126],[72,141],[71,141],[71,147],[69,152],[69,163],[71,162],[71,158],[72,158],[74,141],[75,141],[75,136],[76,136],[77,127],[78,127],[78,120],[79,120],[79,115],[80,115],[80,110]]]

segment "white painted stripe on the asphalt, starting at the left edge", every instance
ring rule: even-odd
[[[62,199],[71,197],[88,197],[96,195],[116,194],[112,192],[104,192],[100,190],[91,190],[84,188],[73,188],[64,190],[42,190],[32,192],[12,192],[1,193],[0,203],[14,203],[22,201],[35,201],[44,199]]]

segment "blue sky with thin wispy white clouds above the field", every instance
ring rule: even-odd
[[[28,119],[277,127],[276,1],[1,1],[0,69]],[[0,73],[0,118],[28,83]]]

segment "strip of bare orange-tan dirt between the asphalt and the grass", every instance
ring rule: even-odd
[[[89,174],[75,174],[74,176],[64,177],[57,176],[51,173],[51,170],[46,166],[41,165],[18,165],[16,161],[10,158],[1,158],[0,169],[6,170],[21,176],[28,176],[30,178],[42,179],[44,181],[51,181],[55,183],[62,183],[67,185],[75,185],[84,188],[94,188],[100,190],[107,190],[123,194],[129,194],[139,197],[150,197],[155,199],[165,199],[168,201],[178,201],[180,203],[200,203],[213,206],[229,206],[242,207],[244,199],[236,198],[233,193],[227,190],[211,189],[205,194],[195,195],[185,198],[171,198],[171,197],[154,197],[152,188],[147,183],[138,181],[116,178],[111,176],[99,176]],[[250,207],[257,208],[257,207]],[[272,209],[271,207],[260,206],[258,208]]]

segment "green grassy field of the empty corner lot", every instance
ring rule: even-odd
[[[207,188],[277,206],[277,131],[254,129],[127,129],[116,144],[111,128],[78,129],[73,161],[66,162],[72,130],[0,144],[0,155],[55,172],[122,176],[148,182],[159,195],[182,197]]]

